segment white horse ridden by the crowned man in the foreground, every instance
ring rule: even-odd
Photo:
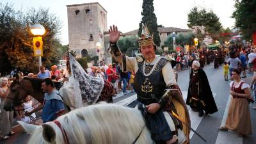
[[[95,104],[70,111],[57,118],[57,121],[67,133],[70,144],[132,144],[137,137],[136,143],[154,143],[138,109],[115,104]],[[29,143],[65,144],[65,134],[54,122],[42,125],[19,124],[32,134]],[[184,140],[179,141],[182,142]]]

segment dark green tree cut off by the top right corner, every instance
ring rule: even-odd
[[[236,27],[241,29],[246,40],[252,39],[256,31],[256,0],[236,0],[235,8],[232,18],[236,20]]]

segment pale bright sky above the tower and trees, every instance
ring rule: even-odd
[[[118,26],[122,33],[139,28],[143,0],[0,0],[0,3],[13,4],[15,10],[26,11],[28,8],[49,8],[62,21],[61,44],[68,44],[67,5],[98,2],[108,12],[108,27]],[[154,0],[157,24],[164,27],[188,29],[188,13],[194,7],[212,10],[223,28],[232,28],[234,19],[234,0]]]

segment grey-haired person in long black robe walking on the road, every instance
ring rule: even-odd
[[[198,63],[198,61],[194,61],[193,65],[195,65],[196,62]],[[202,68],[191,70],[186,104],[188,104],[193,111],[198,111],[198,116],[203,116],[204,111],[205,114],[212,114],[218,111],[212,96],[210,84]]]

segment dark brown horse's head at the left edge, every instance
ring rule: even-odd
[[[17,79],[10,85],[8,96],[4,102],[4,109],[12,111],[15,106],[19,106],[22,100],[31,93],[32,84],[27,79]]]

